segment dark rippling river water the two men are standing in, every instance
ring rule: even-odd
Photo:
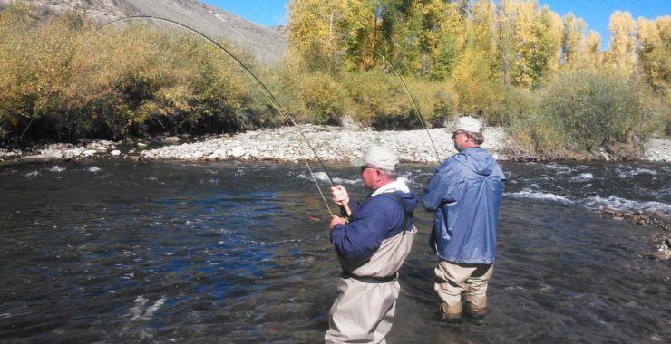
[[[671,167],[501,165],[508,184],[488,316],[438,318],[432,214],[418,210],[389,342],[671,340],[671,264],[647,258],[659,229],[596,211],[671,214]],[[328,168],[365,197],[357,168]],[[403,171],[420,193],[433,167]],[[327,192],[326,175],[316,177]],[[305,166],[20,165],[0,167],[0,195],[0,342],[323,339],[339,267]]]

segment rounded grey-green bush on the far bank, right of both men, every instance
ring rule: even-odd
[[[519,103],[527,105],[509,112],[511,137],[521,150],[545,158],[602,149],[635,158],[668,123],[668,105],[643,83],[599,72],[560,74]]]

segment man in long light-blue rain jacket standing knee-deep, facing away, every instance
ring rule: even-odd
[[[505,176],[480,145],[481,125],[460,117],[452,133],[458,153],[438,167],[424,189],[422,204],[435,211],[431,247],[440,259],[434,289],[446,320],[464,312],[481,318],[487,308],[487,283],[496,255],[496,223]]]

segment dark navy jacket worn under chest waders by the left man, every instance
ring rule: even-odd
[[[335,225],[331,230],[331,243],[335,252],[346,261],[360,263],[373,256],[384,239],[410,229],[412,212],[419,204],[419,198],[412,190],[408,193],[394,191],[398,200],[388,193],[366,198],[359,205],[350,200],[352,222]],[[401,205],[403,203],[403,206]],[[407,222],[404,213],[409,213]]]

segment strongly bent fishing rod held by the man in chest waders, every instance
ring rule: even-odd
[[[294,129],[297,130],[298,134],[306,142],[307,147],[309,147],[312,150],[313,154],[315,155],[315,158],[319,162],[319,165],[321,165],[322,169],[324,169],[324,173],[326,174],[326,177],[328,177],[328,180],[331,182],[331,185],[335,186],[335,182],[333,181],[333,178],[331,177],[331,175],[328,173],[328,171],[326,169],[326,166],[324,166],[324,162],[322,161],[321,158],[319,158],[319,155],[316,153],[316,149],[312,146],[312,144],[310,144],[310,141],[306,138],[303,131],[301,131],[301,129],[298,128],[296,120],[294,120],[288,114],[287,110],[285,110],[284,107],[282,107],[282,105],[279,103],[279,101],[277,101],[277,99],[275,98],[273,93],[267,89],[266,85],[263,82],[258,80],[258,77],[253,72],[251,72],[244,63],[242,63],[234,54],[230,53],[229,50],[226,49],[224,46],[217,43],[213,39],[209,38],[209,36],[205,35],[204,33],[200,33],[198,30],[193,29],[188,25],[181,24],[179,22],[176,22],[176,21],[173,21],[173,20],[170,20],[170,19],[161,18],[161,17],[157,17],[157,16],[151,16],[151,15],[130,15],[130,16],[125,16],[125,17],[119,18],[119,19],[114,19],[111,22],[108,22],[108,23],[103,24],[102,26],[98,27],[93,33],[98,33],[103,28],[105,28],[109,25],[112,25],[114,23],[118,23],[118,22],[122,22],[122,21],[126,21],[126,20],[133,20],[133,19],[150,19],[150,20],[157,20],[157,21],[162,21],[162,22],[178,25],[178,26],[180,26],[184,29],[189,30],[192,33],[198,34],[200,37],[202,37],[203,39],[205,39],[209,43],[212,43],[215,46],[217,46],[219,48],[219,50],[221,50],[224,53],[226,53],[227,55],[229,55],[229,57],[231,59],[233,59],[233,61],[236,62],[236,64],[238,64],[238,67],[240,67],[242,69],[242,71],[245,72],[245,74],[248,76],[248,78],[251,81],[254,81],[254,83],[260,89],[261,93],[263,93],[263,95],[266,97],[266,99],[268,101],[270,101],[270,104],[272,105],[272,107],[275,110],[277,110],[277,113],[279,113],[280,116],[282,116],[282,118],[285,120],[285,122],[287,123],[287,126],[293,127]],[[292,124],[293,124],[293,126],[292,126]],[[321,189],[321,187],[319,187],[319,184],[316,181],[315,174],[313,173],[312,168],[310,167],[310,165],[307,163],[306,155],[303,154],[302,156],[303,156],[303,161],[306,164],[307,170],[310,172],[310,176],[312,177],[312,180],[315,182],[315,186],[316,186],[317,190],[319,191],[319,195],[322,197],[322,200],[324,200],[324,204],[326,205],[326,209],[328,209],[328,213],[331,216],[333,216],[333,212],[331,212],[331,208],[330,208],[330,206],[328,206],[328,202],[326,202],[326,197],[324,196],[324,193],[322,193],[322,189]],[[344,207],[345,207],[345,209],[347,209],[346,205]]]

